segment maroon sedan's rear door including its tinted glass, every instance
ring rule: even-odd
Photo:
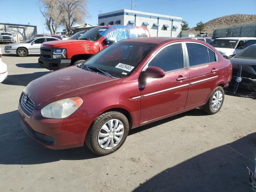
[[[217,54],[208,46],[186,42],[189,88],[186,109],[205,103],[216,88],[220,64]]]

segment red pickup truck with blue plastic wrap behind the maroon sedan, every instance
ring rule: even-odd
[[[48,70],[58,70],[80,64],[114,42],[138,37],[150,37],[148,29],[138,26],[98,26],[88,30],[78,40],[43,43],[38,63]]]

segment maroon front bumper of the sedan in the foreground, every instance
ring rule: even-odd
[[[84,139],[94,115],[69,116],[64,119],[49,119],[34,109],[28,117],[18,107],[24,131],[36,142],[50,149],[67,149],[84,145]]]

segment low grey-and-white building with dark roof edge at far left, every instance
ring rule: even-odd
[[[13,35],[19,34],[20,40],[27,40],[37,33],[36,26],[24,24],[0,23],[0,33],[8,32]]]

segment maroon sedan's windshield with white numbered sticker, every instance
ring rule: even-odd
[[[98,68],[111,76],[128,76],[156,44],[142,42],[117,42],[98,52],[84,62],[92,70]]]

